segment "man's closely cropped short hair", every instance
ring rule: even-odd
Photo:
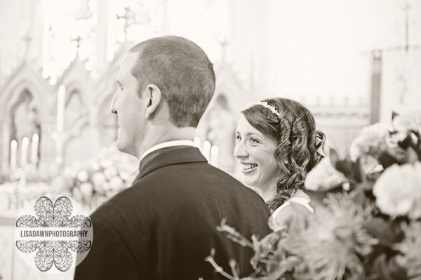
[[[215,91],[215,72],[206,53],[179,36],[149,39],[130,51],[139,53],[131,70],[139,93],[148,84],[158,86],[168,103],[171,122],[196,127]]]

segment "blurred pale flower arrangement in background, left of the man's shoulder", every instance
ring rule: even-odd
[[[75,161],[65,168],[62,183],[76,201],[95,209],[128,187],[134,180],[131,172],[136,168],[134,158],[118,152],[115,147],[109,147],[86,164]]]

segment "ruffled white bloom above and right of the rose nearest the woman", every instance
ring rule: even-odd
[[[368,154],[370,148],[382,151],[387,147],[387,138],[389,138],[389,128],[384,124],[367,126],[349,147],[349,157],[352,161],[356,161],[360,156]]]

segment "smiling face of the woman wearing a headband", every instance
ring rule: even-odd
[[[234,156],[241,165],[241,181],[249,187],[267,189],[276,182],[280,168],[275,160],[276,141],[254,128],[241,116],[236,129]]]

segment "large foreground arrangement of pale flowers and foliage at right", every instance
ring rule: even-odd
[[[276,225],[248,241],[221,222],[218,230],[253,248],[254,272],[243,279],[421,279],[421,112],[394,114],[392,127],[364,128],[345,159],[330,150],[307,174],[313,215]],[[240,279],[239,268],[224,272]]]

